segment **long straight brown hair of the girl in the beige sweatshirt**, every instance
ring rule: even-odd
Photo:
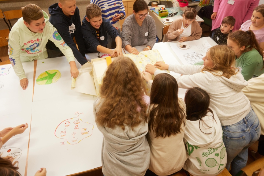
[[[153,130],[155,137],[170,137],[181,131],[185,126],[185,110],[178,100],[178,84],[176,79],[167,74],[158,74],[152,83],[150,104],[153,108],[149,113],[149,130]],[[150,106],[151,107],[151,106]]]

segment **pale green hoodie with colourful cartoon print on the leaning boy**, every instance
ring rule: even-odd
[[[40,60],[48,57],[46,43],[52,41],[65,55],[68,62],[75,61],[73,51],[65,45],[57,29],[49,22],[49,16],[42,11],[46,26],[42,33],[31,32],[21,17],[9,33],[8,55],[19,80],[26,78],[21,62]]]

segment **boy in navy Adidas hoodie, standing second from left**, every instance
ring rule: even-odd
[[[84,65],[87,59],[85,57],[84,38],[81,32],[80,12],[78,7],[76,7],[76,0],[59,0],[59,3],[49,7],[49,13],[51,15],[50,23],[58,29],[65,43],[72,49],[77,61]],[[74,36],[80,51],[78,51],[76,44],[73,42]],[[51,50],[59,51],[53,43],[48,42],[47,47]]]

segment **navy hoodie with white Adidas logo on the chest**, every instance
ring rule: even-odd
[[[74,54],[74,57],[77,61],[84,65],[87,62],[85,59],[85,45],[84,45],[84,37],[81,30],[81,19],[80,19],[80,11],[78,7],[76,7],[74,15],[71,17],[67,17],[62,9],[58,6],[58,3],[53,4],[49,7],[50,13],[50,23],[58,29],[61,37],[63,38],[65,45],[68,45]],[[76,43],[78,45],[79,50],[76,47],[76,44],[73,41],[73,37],[76,39]],[[58,48],[55,44],[52,44],[54,49]]]

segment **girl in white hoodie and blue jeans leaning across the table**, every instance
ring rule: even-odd
[[[247,148],[260,135],[258,117],[242,89],[247,81],[235,68],[235,52],[227,46],[211,47],[203,58],[203,66],[167,65],[156,62],[146,65],[146,71],[157,75],[159,69],[183,74],[175,76],[179,88],[199,87],[210,96],[210,107],[219,117],[223,129],[223,141],[227,152],[226,168],[236,175],[247,164]]]

